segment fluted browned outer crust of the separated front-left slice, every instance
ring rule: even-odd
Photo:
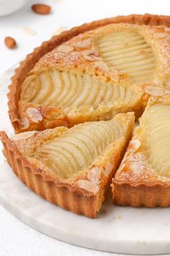
[[[99,196],[88,195],[84,189],[72,189],[65,184],[57,184],[53,179],[44,177],[38,168],[31,166],[11,141],[5,132],[0,132],[1,142],[4,145],[3,153],[7,162],[12,167],[14,174],[32,189],[37,195],[45,198],[49,202],[60,206],[63,209],[71,210],[73,213],[81,214],[89,218],[97,217],[97,210],[99,210]],[[110,177],[110,180],[112,177]]]

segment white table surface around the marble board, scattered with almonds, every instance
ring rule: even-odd
[[[46,16],[34,14],[30,10],[30,6],[37,2],[50,4],[53,12]],[[0,74],[23,59],[43,40],[48,40],[58,27],[71,28],[84,22],[120,14],[169,15],[169,7],[169,0],[63,0],[58,3],[54,3],[54,0],[30,0],[18,12],[0,17]],[[35,30],[36,35],[24,34],[22,31],[24,26]],[[17,40],[18,47],[16,49],[9,50],[4,46],[6,36],[12,36]],[[0,206],[0,255],[109,256],[114,254],[76,247],[52,239],[18,221]]]

